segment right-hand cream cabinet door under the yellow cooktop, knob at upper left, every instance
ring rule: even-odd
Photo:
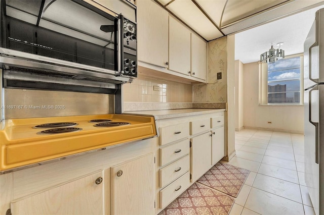
[[[154,213],[154,154],[111,167],[111,214]]]

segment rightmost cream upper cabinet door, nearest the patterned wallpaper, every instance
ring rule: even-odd
[[[191,76],[202,80],[207,77],[207,42],[191,33]]]

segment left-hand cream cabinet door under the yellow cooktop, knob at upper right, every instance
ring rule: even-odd
[[[14,200],[15,214],[104,214],[103,171]]]

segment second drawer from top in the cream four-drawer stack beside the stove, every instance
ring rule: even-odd
[[[164,166],[189,153],[189,139],[159,149],[160,166]]]

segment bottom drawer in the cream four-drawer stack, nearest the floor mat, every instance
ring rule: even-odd
[[[190,185],[190,174],[187,172],[166,188],[160,190],[160,208],[166,207]]]

